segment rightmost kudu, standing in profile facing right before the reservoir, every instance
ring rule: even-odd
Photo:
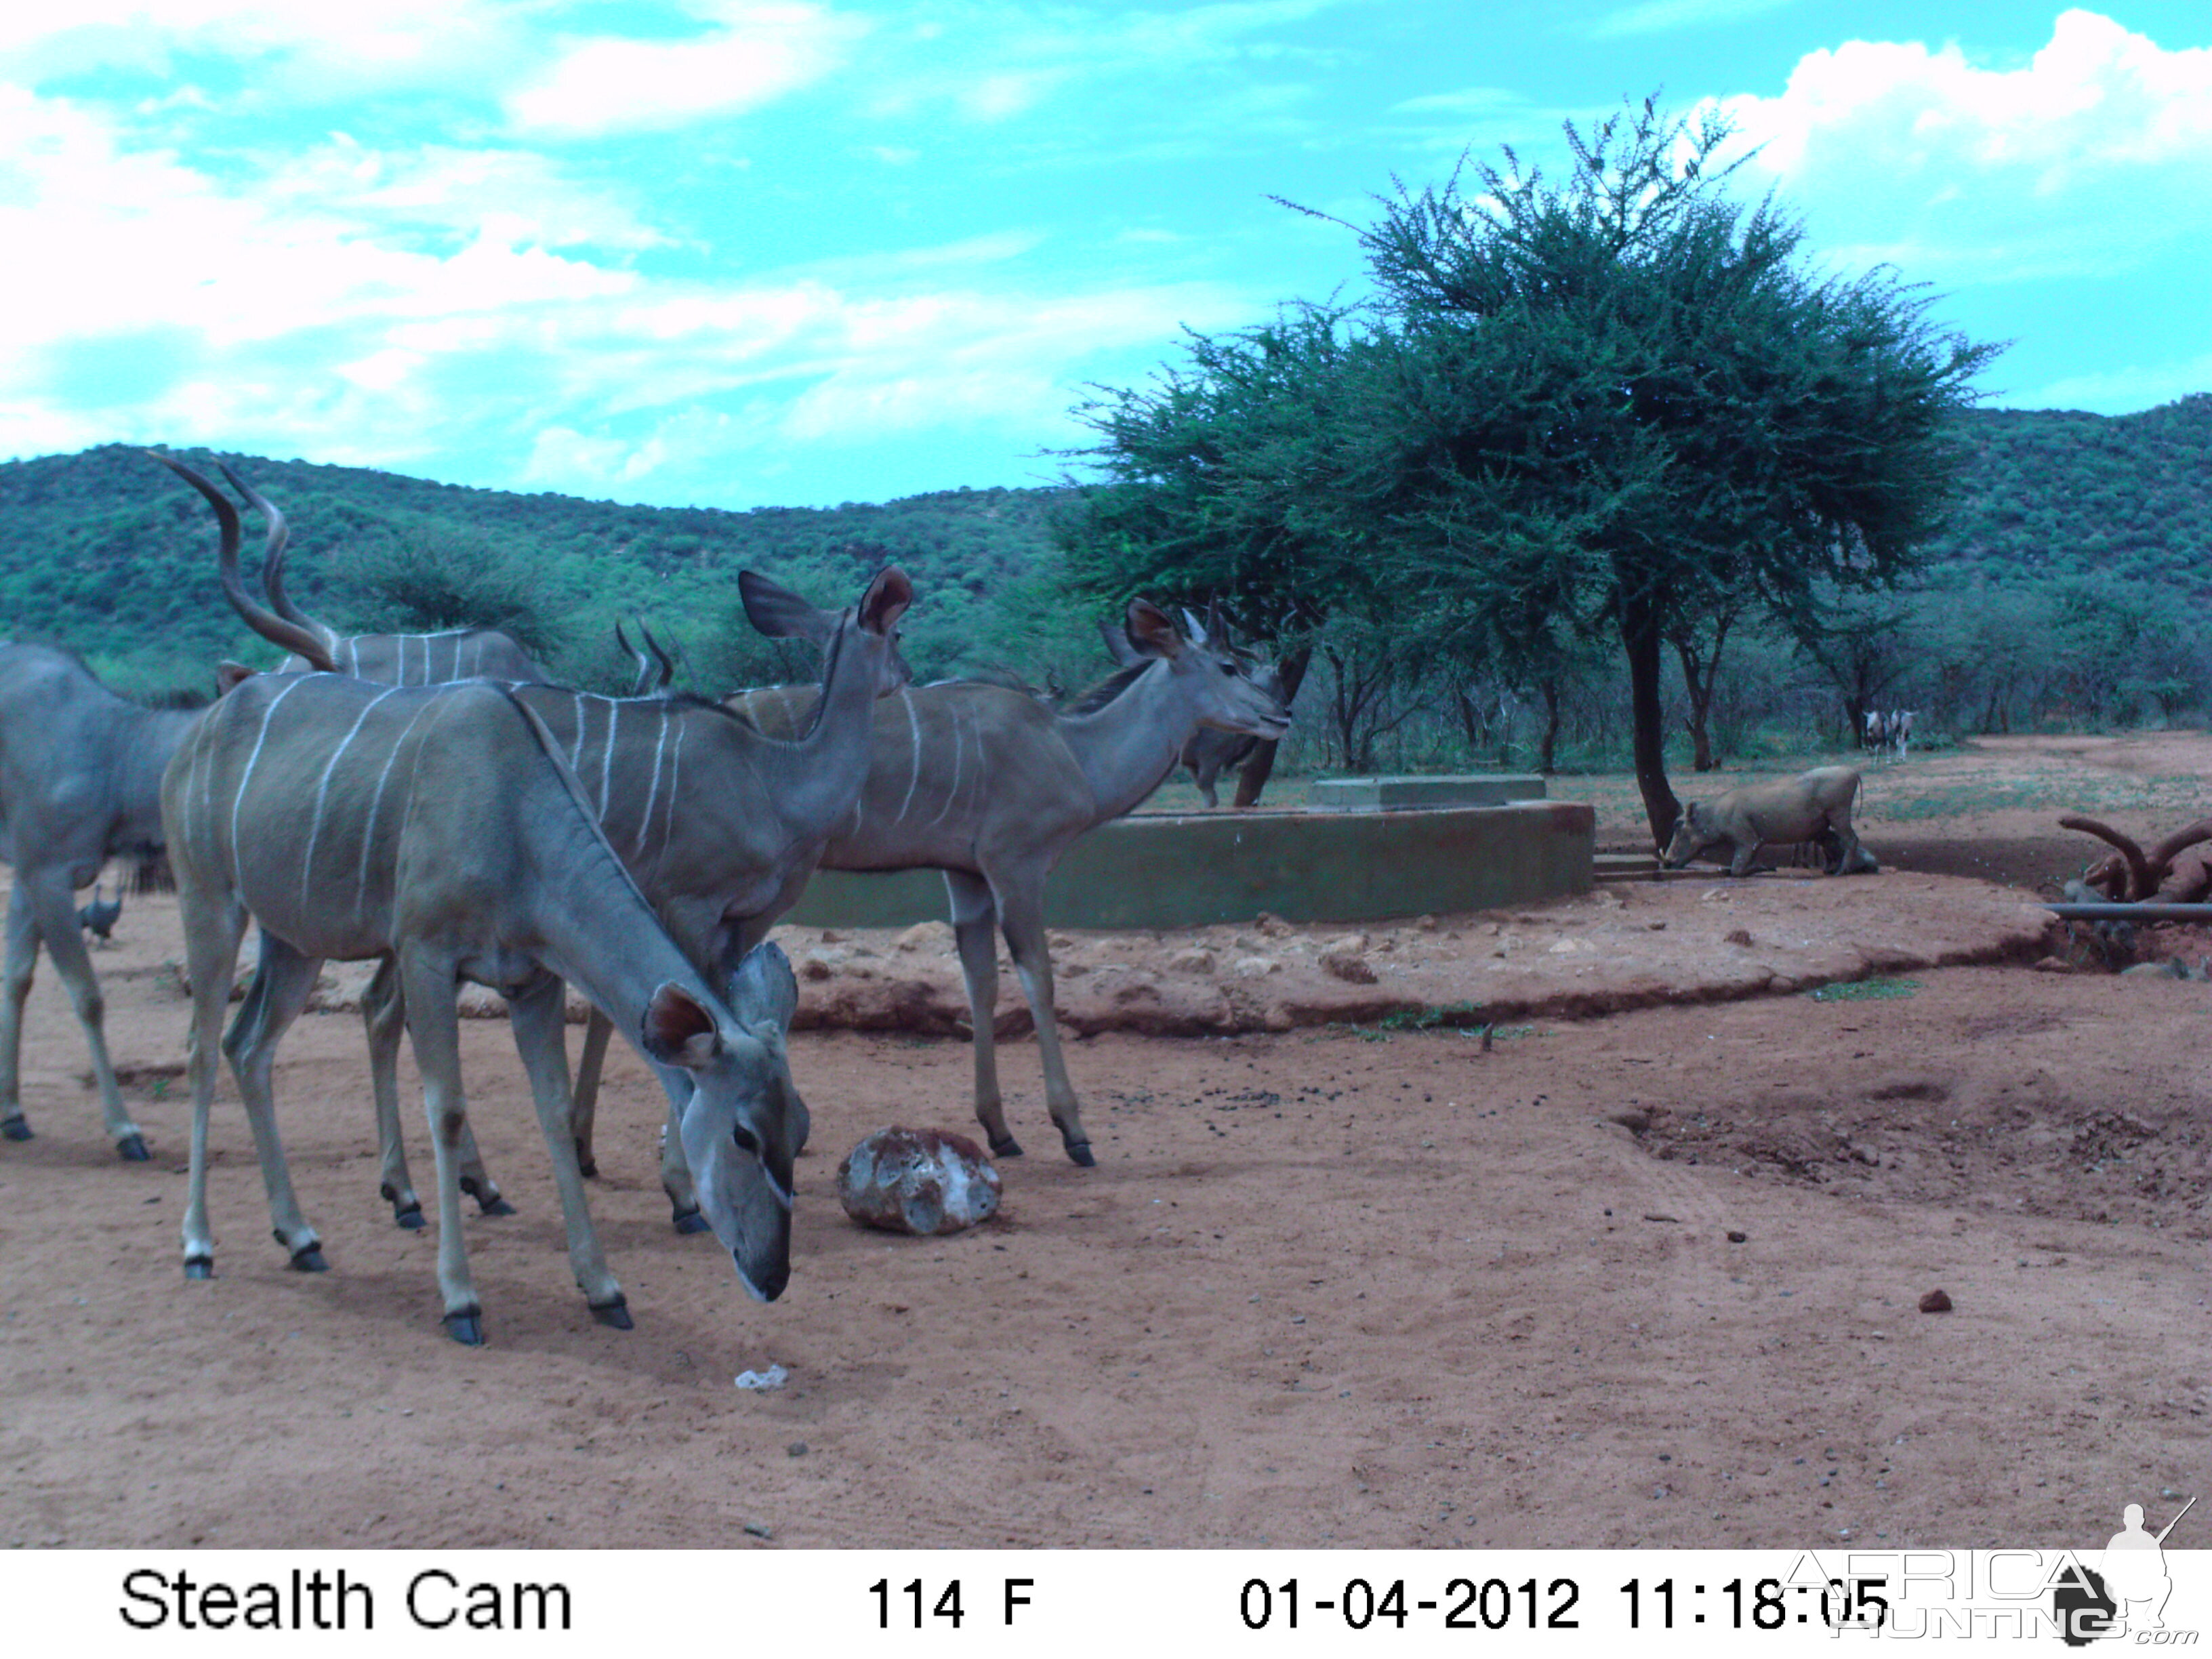
[[[874,763],[854,825],[823,849],[823,869],[942,869],[975,1022],[975,1119],[1000,1157],[1018,1157],[998,1088],[991,1020],[1004,931],[1037,1024],[1044,1099],[1075,1164],[1095,1164],[1060,1053],[1044,878],[1084,832],[1117,818],[1175,770],[1201,726],[1281,737],[1283,699],[1203,628],[1186,639],[1164,611],[1128,606],[1137,664],[1073,706],[1051,710],[1004,686],[920,686],[876,703]],[[765,732],[807,719],[805,688],[728,699]],[[792,898],[799,883],[792,887]],[[781,909],[757,918],[765,931]]]

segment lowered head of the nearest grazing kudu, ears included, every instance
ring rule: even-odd
[[[699,1210],[737,1263],[737,1276],[772,1303],[792,1276],[792,1159],[799,1152],[794,1091],[783,1033],[799,982],[776,945],[757,945],[730,973],[728,1011],[668,982],[646,1004],[639,1046],[692,1082],[677,1121],[699,1188]]]

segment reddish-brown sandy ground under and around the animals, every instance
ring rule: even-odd
[[[657,1091],[617,1055],[593,1208],[635,1332],[586,1314],[507,1033],[467,1022],[478,1135],[522,1210],[469,1221],[484,1349],[442,1338],[434,1234],[376,1194],[341,1013],[301,1020],[276,1073],[332,1272],[270,1243],[226,1082],[219,1276],[184,1283],[175,911],[133,902],[97,962],[155,1159],[106,1146],[51,969],[38,1139],[0,1146],[0,1542],[2097,1540],[2203,1478],[2212,989],[2033,971],[2022,907],[2095,852],[2057,812],[2157,834],[2208,774],[2194,734],[1916,754],[1869,774],[1863,814],[1900,874],[1358,929],[1371,982],[1321,967],[1354,929],[1075,936],[1099,1166],[1060,1159],[1013,1037],[1031,1155],[953,1239],[854,1228],[834,1168],[891,1121],[967,1128],[964,1044],[936,1015],[805,1033],[818,1150],[768,1307],[670,1232]],[[1632,845],[1626,785],[1588,785]],[[825,960],[825,1004],[858,949],[898,982],[949,962],[927,933],[790,942]],[[1276,967],[1239,975],[1252,958]],[[1150,1002],[1097,991],[1113,964]],[[1893,995],[1836,995],[1869,969]],[[1261,1018],[1219,1035],[1099,1015],[1239,984]],[[1484,1011],[1493,1046],[1411,1029],[1422,1009]],[[1938,1287],[1953,1312],[1918,1312]],[[732,1387],[770,1363],[785,1389]]]

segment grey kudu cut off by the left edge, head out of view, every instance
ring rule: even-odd
[[[190,708],[139,708],[102,686],[66,650],[0,641],[0,858],[15,867],[0,993],[0,1137],[31,1139],[22,1115],[22,1009],[38,947],[69,987],[115,1152],[146,1157],[115,1086],[102,1033],[100,980],[84,949],[75,894],[108,858],[161,876],[161,768],[199,719]]]

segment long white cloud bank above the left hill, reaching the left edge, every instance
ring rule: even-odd
[[[538,155],[334,135],[263,166],[215,179],[0,86],[0,241],[35,250],[0,312],[0,453],[126,438],[710,482],[717,447],[765,476],[810,445],[1048,440],[1113,354],[1252,310],[1214,285],[1035,292],[1026,230],[666,279],[611,263],[650,223]]]

